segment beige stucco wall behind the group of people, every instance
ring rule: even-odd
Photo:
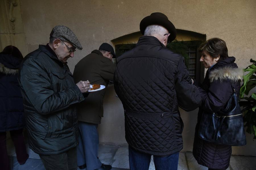
[[[79,38],[83,50],[77,50],[75,57],[68,60],[73,72],[75,64],[102,42],[139,31],[142,18],[152,12],[162,12],[177,29],[205,34],[206,38],[219,37],[226,41],[229,55],[236,57],[239,67],[245,68],[249,59],[256,59],[256,1],[255,0],[17,0],[14,12],[18,20],[13,45],[20,48],[23,55],[36,50],[38,44],[49,41],[49,33],[55,25],[68,26]],[[1,4],[3,1],[1,1]],[[0,8],[1,9],[1,8]],[[15,8],[14,8],[15,10]],[[20,16],[20,17],[18,17]],[[0,16],[2,19],[3,16]],[[7,44],[7,31],[1,20],[1,44]],[[14,36],[14,35],[12,35]],[[7,37],[6,39],[3,37]],[[1,45],[3,46],[3,45]],[[120,100],[115,96],[113,85],[107,89],[104,100],[104,118],[98,130],[100,142],[125,145],[124,115]],[[185,127],[183,131],[184,149],[192,150],[197,110],[181,110]],[[247,134],[248,135],[248,134]],[[247,137],[247,145],[233,147],[233,154],[256,156],[256,145],[252,135]]]

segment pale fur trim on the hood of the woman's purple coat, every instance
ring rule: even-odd
[[[231,81],[240,81],[243,79],[243,69],[233,68],[233,67],[222,67],[219,69],[214,69],[209,73],[210,82],[220,79],[223,81],[225,79],[230,79]]]

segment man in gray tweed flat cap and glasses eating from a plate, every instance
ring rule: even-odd
[[[19,71],[29,147],[48,170],[77,169],[78,126],[74,104],[84,100],[89,81],[75,84],[67,66],[82,46],[66,26],[57,25],[47,45],[24,58]]]

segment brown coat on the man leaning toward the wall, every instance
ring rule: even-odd
[[[76,64],[73,74],[75,83],[80,80],[89,80],[90,84],[100,84],[107,87],[109,80],[113,80],[115,66],[99,50],[93,50],[92,53]],[[106,88],[90,93],[83,102],[77,105],[79,121],[100,124],[101,117],[103,117],[103,98],[105,92]]]

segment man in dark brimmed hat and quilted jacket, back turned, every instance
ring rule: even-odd
[[[125,138],[131,170],[147,170],[151,155],[156,169],[177,170],[183,147],[183,122],[178,106],[186,111],[201,103],[184,58],[166,48],[176,38],[167,16],[152,13],[140,23],[135,48],[117,58],[115,92],[125,113]]]

